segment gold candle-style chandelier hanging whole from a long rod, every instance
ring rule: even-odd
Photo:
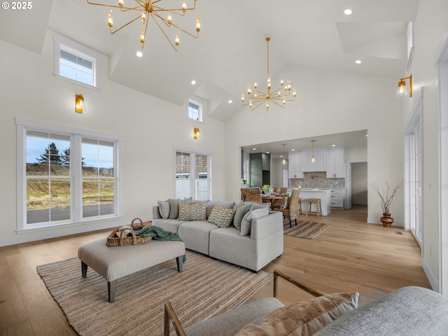
[[[265,39],[267,42],[267,92],[258,90],[257,83],[254,83],[252,93],[251,85],[247,85],[247,95],[249,102],[246,104],[244,104],[244,92],[241,93],[241,102],[243,106],[248,105],[251,111],[255,110],[263,102],[266,103],[266,110],[269,110],[269,102],[273,102],[281,108],[284,108],[286,102],[295,101],[296,96],[295,89],[293,89],[293,97],[288,99],[291,91],[290,80],[286,82],[286,85],[285,83],[283,83],[283,80],[281,80],[280,87],[276,90],[271,91],[271,78],[269,77],[269,41],[271,41],[271,38],[267,36],[267,38]]]

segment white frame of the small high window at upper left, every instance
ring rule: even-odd
[[[100,85],[101,55],[99,54],[99,52],[96,52],[90,48],[87,48],[85,45],[76,43],[75,41],[71,41],[69,38],[65,38],[57,34],[53,35],[53,40],[55,41],[55,77],[58,79],[69,81],[70,83],[99,90],[101,88]],[[93,85],[89,85],[80,82],[78,80],[73,80],[71,78],[67,78],[61,75],[60,73],[61,50],[65,50],[66,52],[70,52],[73,55],[83,57],[84,59],[88,59],[89,61],[92,62]]]

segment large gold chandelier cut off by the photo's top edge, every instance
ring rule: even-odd
[[[131,0],[127,0],[131,1]],[[122,25],[118,29],[113,29],[113,16],[112,16],[112,10],[109,11],[109,18],[108,18],[108,25],[109,30],[111,31],[111,34],[115,34],[120,29],[123,29],[127,25],[130,25],[132,22],[141,19],[141,29],[140,29],[140,42],[141,42],[141,48],[144,48],[145,44],[145,36],[146,31],[148,29],[148,22],[149,18],[153,18],[155,24],[160,28],[162,31],[162,34],[167,38],[169,44],[172,45],[174,50],[178,50],[179,47],[179,31],[176,31],[176,39],[174,40],[174,43],[169,39],[167,36],[167,33],[164,30],[165,28],[175,27],[179,29],[180,31],[183,31],[184,33],[194,37],[199,37],[199,32],[201,31],[201,22],[200,22],[200,14],[197,14],[196,18],[196,34],[192,34],[189,31],[186,31],[185,29],[182,29],[178,25],[176,25],[172,20],[172,14],[173,15],[179,15],[184,16],[187,12],[187,10],[194,10],[196,8],[196,1],[193,0],[193,7],[187,8],[186,1],[183,1],[181,8],[162,8],[162,1],[163,0],[155,0],[155,1],[141,1],[141,0],[134,0],[136,6],[134,7],[127,7],[124,5],[123,0],[118,0],[118,5],[109,5],[107,3],[96,3],[87,0],[87,3],[90,3],[91,5],[97,5],[97,6],[106,6],[111,8],[119,8],[120,12],[127,12],[129,10],[136,10],[137,12],[140,12],[137,18],[131,20],[130,22],[125,23],[125,25]],[[167,18],[162,18],[161,13],[167,13]]]

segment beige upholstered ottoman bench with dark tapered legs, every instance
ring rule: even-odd
[[[123,276],[176,258],[177,270],[182,272],[185,244],[183,241],[152,240],[148,244],[106,246],[105,239],[78,248],[81,274],[87,276],[87,266],[107,280],[109,302],[115,301],[117,281]]]

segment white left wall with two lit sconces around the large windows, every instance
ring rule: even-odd
[[[204,116],[200,139],[193,139],[197,123],[187,120],[185,106],[176,106],[109,80],[109,59],[102,57],[102,90],[92,90],[53,76],[52,32],[45,37],[42,55],[0,41],[0,246],[57,237],[76,232],[129,224],[133,218],[152,218],[157,200],[174,196],[173,146],[213,153],[213,195],[225,199],[224,124]],[[87,111],[75,113],[76,93],[82,93]],[[173,92],[176,94],[176,92]],[[86,130],[118,134],[123,142],[123,218],[97,225],[15,233],[16,144],[15,117]]]

